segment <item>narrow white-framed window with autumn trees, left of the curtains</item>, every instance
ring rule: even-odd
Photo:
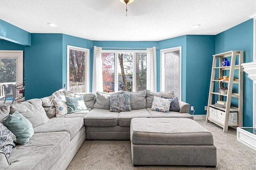
[[[67,89],[74,93],[89,92],[90,50],[68,45]]]

